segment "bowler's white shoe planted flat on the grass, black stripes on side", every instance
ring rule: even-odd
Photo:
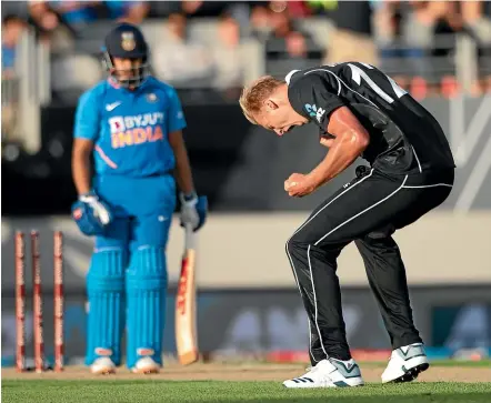
[[[360,367],[353,359],[340,361],[322,360],[315,366],[307,369],[307,373],[283,382],[287,387],[347,387],[364,384]]]

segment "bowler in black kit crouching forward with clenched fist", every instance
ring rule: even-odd
[[[377,68],[345,62],[263,77],[246,88],[240,104],[255,124],[283,135],[309,122],[319,127],[325,158],[284,182],[304,197],[350,167],[369,167],[321,203],[287,242],[310,323],[312,366],[287,387],[363,384],[347,342],[337,259],[354,241],[392,343],[382,382],[414,380],[429,367],[414,326],[405,269],[392,234],[441,204],[454,180],[447,138],[419,102]],[[305,139],[308,141],[308,139]]]

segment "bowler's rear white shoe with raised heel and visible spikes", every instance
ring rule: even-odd
[[[414,381],[429,366],[422,343],[404,345],[392,351],[389,364],[382,373],[382,383]]]

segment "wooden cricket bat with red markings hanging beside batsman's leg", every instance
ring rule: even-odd
[[[176,299],[176,343],[179,362],[182,365],[189,365],[199,359],[196,313],[196,234],[190,225],[184,228],[184,253]]]

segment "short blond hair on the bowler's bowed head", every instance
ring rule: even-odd
[[[243,114],[252,124],[258,124],[253,114],[261,110],[264,100],[283,83],[283,80],[275,79],[272,75],[264,75],[253,81],[249,87],[244,87],[239,103]]]

